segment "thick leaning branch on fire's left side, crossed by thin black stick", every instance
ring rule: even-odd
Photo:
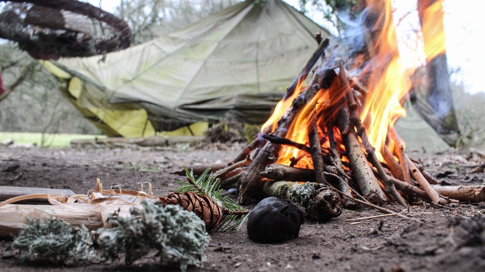
[[[327,44],[328,46],[328,39],[322,41],[321,45]],[[323,47],[326,47],[323,46]],[[319,46],[320,48],[320,46]],[[320,56],[318,56],[320,57]],[[333,60],[332,54],[330,57],[325,61],[322,62],[320,67],[326,67],[326,64]],[[286,131],[290,124],[293,122],[297,113],[301,111],[304,105],[309,103],[313,97],[317,94],[320,90],[324,79],[329,80],[332,76],[334,76],[333,70],[325,70],[320,69],[317,70],[316,73],[313,74],[309,84],[305,87],[305,90],[302,91],[298,97],[293,101],[291,110],[288,111],[285,118],[282,118],[278,122],[278,127],[276,128],[275,132],[273,133],[277,137],[283,137],[286,134]],[[251,165],[249,165],[248,170],[245,172],[243,177],[239,179],[239,187],[240,193],[238,202],[240,204],[249,204],[251,201],[251,197],[258,185],[258,182],[261,180],[261,176],[259,173],[263,172],[265,167],[271,163],[273,163],[278,155],[280,149],[280,145],[275,145],[270,142],[267,142],[265,146],[261,149],[258,155],[255,157]]]

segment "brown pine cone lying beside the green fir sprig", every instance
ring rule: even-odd
[[[166,198],[160,198],[165,204],[177,204],[183,209],[193,211],[206,224],[206,230],[211,231],[221,224],[224,219],[224,213],[227,209],[219,205],[210,197],[199,195],[192,192],[170,193]]]

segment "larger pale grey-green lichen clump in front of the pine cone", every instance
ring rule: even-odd
[[[204,222],[178,205],[150,202],[142,202],[143,209],[132,209],[129,217],[113,214],[110,221],[117,227],[97,231],[96,243],[104,256],[116,259],[124,252],[125,262],[131,264],[155,248],[162,263],[176,259],[182,271],[187,265],[202,267],[210,241]]]

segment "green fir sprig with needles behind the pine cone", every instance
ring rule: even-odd
[[[193,172],[189,171],[185,166],[183,166],[183,169],[187,175],[187,181],[174,180],[174,182],[183,184],[177,188],[176,192],[181,194],[193,192],[212,198],[216,203],[221,204],[227,209],[227,213],[224,214],[225,218],[219,227],[216,228],[216,231],[225,232],[236,228],[239,231],[248,218],[250,210],[241,207],[227,196],[221,196],[223,189],[220,188],[220,180],[216,180],[211,175],[208,176],[211,170],[210,167],[197,179],[193,176]]]

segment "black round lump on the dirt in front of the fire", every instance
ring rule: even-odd
[[[278,243],[298,237],[305,212],[290,200],[268,197],[249,214],[249,239],[259,243]]]

